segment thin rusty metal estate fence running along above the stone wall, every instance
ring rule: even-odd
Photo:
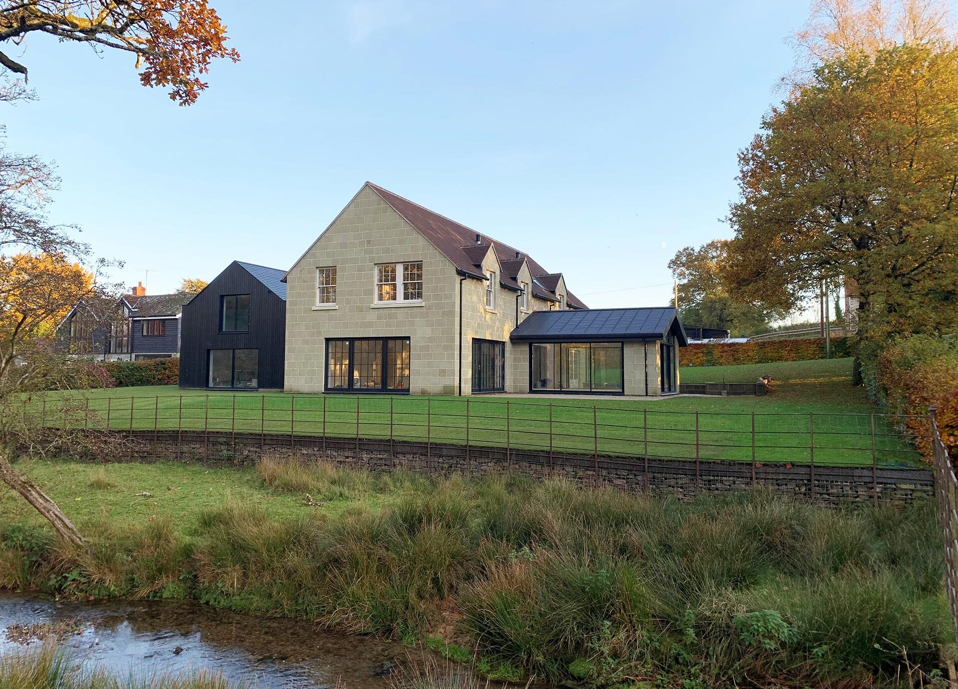
[[[563,455],[815,466],[915,467],[909,419],[878,413],[659,411],[634,403],[526,398],[209,393],[45,397],[28,413],[41,426],[143,436],[172,432],[353,438],[505,448]],[[915,426],[914,423],[911,424]]]

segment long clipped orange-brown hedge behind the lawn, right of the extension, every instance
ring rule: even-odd
[[[832,339],[833,357],[850,357],[852,353],[848,338]],[[689,345],[683,347],[679,353],[681,365],[690,367],[769,364],[824,358],[824,338]]]

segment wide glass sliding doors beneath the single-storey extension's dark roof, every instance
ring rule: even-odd
[[[557,392],[622,392],[622,343],[536,343],[531,388]]]

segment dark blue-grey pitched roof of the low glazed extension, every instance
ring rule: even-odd
[[[673,306],[534,311],[510,335],[513,342],[621,342],[664,340],[672,332],[688,344]]]

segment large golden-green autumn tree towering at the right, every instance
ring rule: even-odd
[[[953,48],[900,45],[819,66],[741,151],[730,289],[791,308],[822,278],[853,279],[861,338],[954,329],[956,103]]]

